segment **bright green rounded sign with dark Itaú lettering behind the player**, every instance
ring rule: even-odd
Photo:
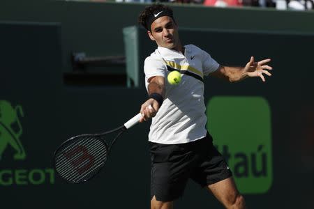
[[[243,194],[266,193],[273,182],[271,109],[266,99],[216,96],[207,104],[207,129]]]

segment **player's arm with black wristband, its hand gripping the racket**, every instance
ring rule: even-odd
[[[140,110],[142,118],[140,119],[140,123],[156,116],[157,111],[165,98],[165,77],[150,77],[148,82],[149,99],[142,104]]]

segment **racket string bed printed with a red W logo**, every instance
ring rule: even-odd
[[[107,160],[107,145],[100,137],[77,137],[59,148],[55,156],[57,173],[71,183],[81,183],[96,173]]]

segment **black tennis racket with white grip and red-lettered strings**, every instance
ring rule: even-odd
[[[99,173],[107,161],[110,149],[123,132],[137,124],[142,117],[137,114],[124,125],[99,134],[81,134],[64,141],[54,153],[54,170],[68,183],[83,183]],[[108,144],[106,134],[117,132]]]

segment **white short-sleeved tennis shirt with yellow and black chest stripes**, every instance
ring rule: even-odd
[[[204,76],[219,64],[195,45],[186,45],[185,53],[158,47],[144,62],[145,84],[154,76],[166,79],[165,98],[152,118],[149,141],[160,144],[183,144],[206,136],[207,116],[204,104]],[[170,85],[171,70],[181,72],[181,82]],[[148,91],[148,90],[147,90]]]

